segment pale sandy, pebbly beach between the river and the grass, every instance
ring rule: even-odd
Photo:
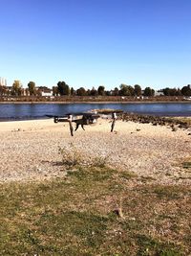
[[[104,159],[109,166],[150,177],[163,184],[191,184],[190,169],[182,166],[191,157],[191,129],[110,121],[78,128],[53,120],[0,123],[0,182],[41,180],[66,175],[59,154],[75,149],[88,162]]]

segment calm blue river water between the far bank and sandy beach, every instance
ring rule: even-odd
[[[0,121],[45,118],[95,108],[122,109],[127,112],[158,116],[191,116],[191,103],[157,104],[0,104]]]

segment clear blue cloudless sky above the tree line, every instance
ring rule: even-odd
[[[0,0],[0,77],[52,87],[191,83],[190,0]]]

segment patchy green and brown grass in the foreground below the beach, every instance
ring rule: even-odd
[[[0,255],[188,255],[191,189],[138,180],[76,167],[65,178],[1,184]]]

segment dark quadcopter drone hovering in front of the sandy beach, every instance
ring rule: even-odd
[[[114,131],[115,124],[117,121],[117,114],[122,113],[122,110],[96,110],[93,112],[80,112],[80,113],[67,113],[62,116],[57,115],[46,115],[49,118],[53,118],[54,123],[66,122],[69,123],[71,136],[74,136],[74,131],[76,131],[79,126],[84,128],[84,126],[94,125],[97,123],[97,119],[100,117],[108,118],[108,115],[112,118],[111,132]],[[73,127],[75,123],[75,128]]]

